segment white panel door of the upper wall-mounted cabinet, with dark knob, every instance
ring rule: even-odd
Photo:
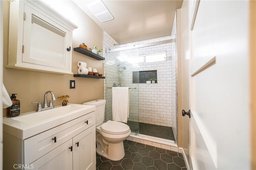
[[[27,4],[24,12],[22,62],[68,70],[70,31]]]

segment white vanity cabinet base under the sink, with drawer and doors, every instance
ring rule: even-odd
[[[4,169],[96,169],[95,111],[19,139],[4,133]]]

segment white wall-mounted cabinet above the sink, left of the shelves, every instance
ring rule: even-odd
[[[11,0],[8,68],[72,74],[76,25],[38,0]]]

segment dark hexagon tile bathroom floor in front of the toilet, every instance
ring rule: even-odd
[[[187,170],[181,153],[127,140],[124,149],[118,161],[96,154],[96,170]]]

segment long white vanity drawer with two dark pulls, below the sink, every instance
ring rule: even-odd
[[[30,164],[94,124],[93,111],[24,140],[24,164]]]

